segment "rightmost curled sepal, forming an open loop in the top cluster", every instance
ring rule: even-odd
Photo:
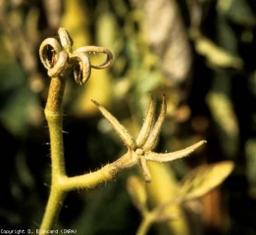
[[[90,53],[105,54],[107,56],[107,58],[106,58],[105,62],[103,62],[101,65],[99,65],[99,66],[90,65],[91,68],[96,69],[96,70],[102,70],[102,69],[107,68],[113,61],[113,55],[112,55],[111,51],[106,49],[105,47],[83,46],[83,47],[77,48],[77,50],[74,53],[77,53],[77,52],[85,53],[87,55]]]

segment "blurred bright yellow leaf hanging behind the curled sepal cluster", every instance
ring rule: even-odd
[[[81,0],[66,0],[65,9],[62,25],[69,30],[74,40],[74,49],[94,44],[95,42],[91,42],[90,24],[92,23],[92,19],[87,4]],[[97,31],[98,29],[96,29]],[[100,65],[102,63],[101,55],[90,54],[89,57],[93,65]],[[112,84],[108,70],[92,70],[89,81],[84,86],[77,88],[79,92],[72,107],[73,114],[78,117],[84,117],[97,113],[98,109],[91,103],[91,99],[95,99],[101,105],[108,107],[112,94]],[[74,86],[72,86],[73,88]],[[73,98],[68,97],[68,99],[74,101]]]

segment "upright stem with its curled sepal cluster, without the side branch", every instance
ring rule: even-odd
[[[83,84],[88,80],[91,68],[104,69],[113,60],[112,53],[102,47],[81,47],[77,52],[73,52],[73,40],[69,32],[63,27],[58,32],[58,39],[45,39],[39,49],[41,62],[51,77],[44,114],[50,134],[52,176],[50,196],[40,226],[42,234],[45,230],[54,227],[68,191],[76,189],[76,185],[69,187],[73,180],[70,180],[71,178],[66,174],[64,160],[63,96],[67,77],[71,71],[74,71],[77,83]],[[88,52],[104,53],[107,59],[102,65],[93,66],[86,54]]]

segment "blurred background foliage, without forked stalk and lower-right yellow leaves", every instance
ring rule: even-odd
[[[37,228],[46,205],[50,158],[43,108],[49,78],[38,47],[65,26],[74,48],[94,44],[114,54],[113,66],[93,71],[83,87],[68,81],[68,174],[113,162],[124,151],[90,99],[137,133],[148,92],[158,99],[166,93],[168,116],[158,150],[208,141],[203,151],[168,165],[170,170],[181,178],[200,164],[232,160],[236,165],[217,189],[220,197],[201,201],[204,219],[192,216],[191,234],[256,234],[255,9],[255,0],[1,0],[0,228]],[[133,171],[70,194],[58,226],[86,235],[134,234],[141,218],[126,190]]]

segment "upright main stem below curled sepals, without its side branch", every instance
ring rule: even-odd
[[[51,78],[48,99],[44,111],[50,133],[52,178],[50,196],[41,223],[41,230],[53,228],[66,196],[66,192],[61,187],[61,179],[66,176],[62,111],[65,83],[65,77],[58,76]],[[43,232],[41,234],[43,234]]]

